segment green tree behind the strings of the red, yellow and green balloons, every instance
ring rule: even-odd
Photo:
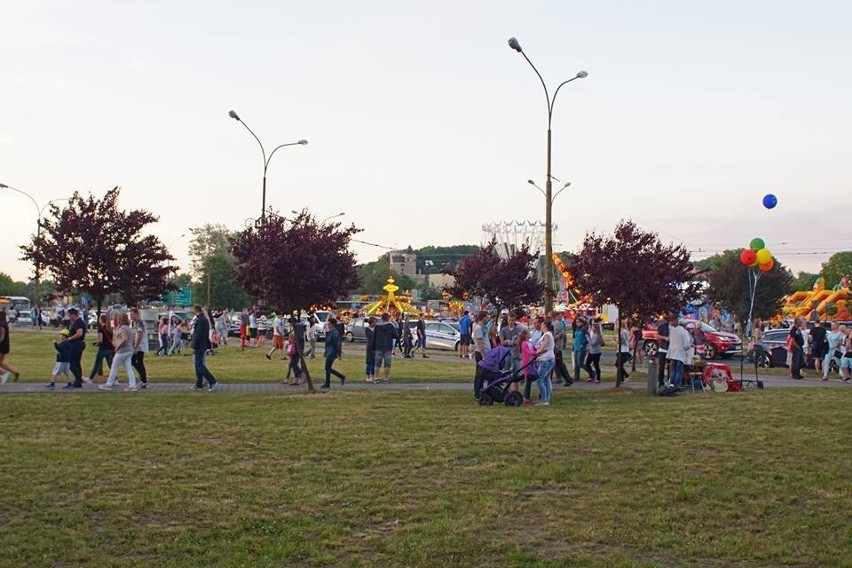
[[[740,262],[743,249],[721,253],[715,267],[707,273],[707,297],[734,313],[741,321],[749,315],[749,269]],[[781,308],[781,300],[793,288],[793,275],[777,259],[769,272],[760,272],[754,294],[752,317],[771,318]],[[811,280],[810,287],[813,286]]]

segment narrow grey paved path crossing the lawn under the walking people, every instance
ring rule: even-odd
[[[748,375],[745,376],[746,379],[750,377]],[[775,388],[852,388],[852,383],[844,383],[839,379],[831,379],[828,381],[821,381],[819,379],[805,379],[803,381],[794,381],[793,379],[787,379],[782,377],[761,377],[761,380],[766,385],[768,389]],[[315,382],[315,386],[319,387],[322,382]],[[101,395],[115,395],[115,394],[152,394],[158,392],[190,392],[189,388],[192,385],[190,382],[185,383],[174,383],[174,382],[152,382],[150,387],[146,390],[140,390],[138,393],[125,393],[122,389],[127,385],[126,382],[122,382],[119,386],[115,387],[112,392],[104,392],[98,389],[95,385],[85,385],[82,389],[74,389],[65,391],[57,386],[56,390],[48,391],[44,388],[44,383],[6,383],[5,385],[0,385],[0,394],[2,393],[45,393],[45,394],[59,394],[59,395],[76,395],[76,394],[101,394]],[[605,390],[613,388],[614,383],[612,382],[603,382],[600,384],[597,383],[576,383],[570,388],[572,390]],[[646,386],[645,380],[631,380],[625,384],[626,388],[630,389],[642,389],[644,390]],[[472,383],[394,383],[391,381],[390,384],[369,384],[361,381],[347,381],[344,386],[340,386],[340,383],[335,382],[332,383],[331,390],[332,391],[347,391],[347,392],[358,392],[358,391],[469,391],[473,389]],[[317,389],[319,390],[319,388]],[[562,385],[554,385],[554,390],[557,392],[560,390],[565,390],[565,387]],[[291,387],[285,386],[277,382],[263,382],[263,383],[228,383],[227,381],[223,381],[221,383],[221,387],[219,388],[220,393],[265,393],[265,394],[300,394],[304,393],[305,387]],[[201,394],[201,393],[198,393]]]

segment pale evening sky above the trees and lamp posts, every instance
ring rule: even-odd
[[[543,220],[557,250],[622,218],[694,258],[762,237],[795,271],[852,249],[852,3],[0,0],[0,183],[41,207],[120,186],[189,268],[189,228],[267,204],[387,248]],[[845,165],[844,165],[845,164]],[[554,182],[555,189],[562,184]],[[772,193],[778,206],[765,209]],[[0,189],[0,272],[37,208]],[[185,236],[182,236],[185,235]]]

